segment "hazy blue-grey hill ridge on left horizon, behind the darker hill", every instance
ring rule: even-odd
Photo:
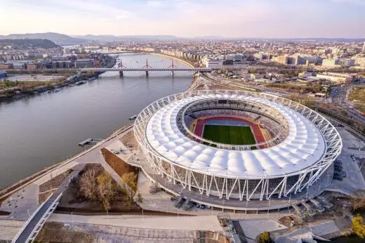
[[[53,32],[33,33],[33,34],[9,34],[1,36],[0,39],[49,39],[58,45],[77,45],[86,44],[88,40],[69,37],[66,34],[58,34]]]

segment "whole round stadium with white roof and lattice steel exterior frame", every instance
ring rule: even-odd
[[[314,110],[249,91],[161,98],[140,112],[134,134],[149,169],[167,182],[237,202],[308,190],[342,149],[338,131]]]

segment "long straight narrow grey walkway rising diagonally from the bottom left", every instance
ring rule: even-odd
[[[39,208],[39,210],[32,216],[29,223],[25,226],[25,228],[20,233],[18,239],[15,240],[17,243],[27,242],[27,239],[32,235],[34,229],[39,224],[42,218],[44,218],[45,214],[50,210],[51,206],[56,202],[58,196],[64,192],[69,184],[69,180],[77,176],[82,169],[84,169],[85,164],[79,164],[74,167],[72,173],[69,174],[68,178],[63,181],[63,183],[58,187],[58,189],[53,192],[53,195]]]

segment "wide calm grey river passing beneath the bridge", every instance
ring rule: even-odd
[[[169,58],[122,54],[126,67],[168,67]],[[178,67],[186,67],[178,61]],[[87,84],[0,103],[0,188],[83,150],[86,138],[107,138],[154,100],[185,91],[191,72],[106,72]]]

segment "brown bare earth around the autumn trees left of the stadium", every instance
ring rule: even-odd
[[[94,169],[96,171],[95,176],[99,176],[101,173],[104,173],[104,168],[100,164],[87,164],[84,171],[88,169]],[[82,175],[83,171],[81,171],[80,175]],[[76,180],[70,183],[69,187],[63,192],[62,197],[60,199],[60,204],[58,204],[58,208],[56,212],[79,212],[79,213],[105,213],[105,209],[103,209],[102,204],[100,202],[91,202],[86,199],[79,190],[79,180]],[[113,180],[114,182],[114,180]],[[115,182],[114,182],[115,183]],[[116,188],[120,188],[117,183],[114,184]],[[121,190],[117,191],[117,196],[111,202],[110,212],[129,212],[135,211],[139,212],[140,207],[138,204],[133,202],[133,204],[128,207],[127,203],[128,198],[124,195]]]

